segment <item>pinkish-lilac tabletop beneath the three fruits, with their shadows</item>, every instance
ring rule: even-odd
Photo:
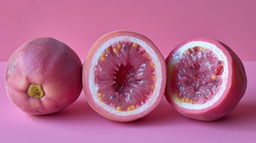
[[[82,93],[59,113],[32,116],[18,110],[0,82],[0,142],[256,142],[256,61],[244,61],[245,96],[232,113],[215,122],[182,116],[165,100],[147,116],[113,122],[93,111]],[[4,75],[6,62],[0,62]]]

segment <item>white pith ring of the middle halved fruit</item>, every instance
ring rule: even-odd
[[[155,83],[155,90],[153,91],[152,96],[147,99],[147,101],[141,105],[140,107],[136,108],[135,110],[131,110],[131,111],[118,111],[115,108],[105,104],[104,102],[101,102],[98,97],[98,86],[94,83],[94,79],[95,79],[95,75],[94,75],[94,68],[98,63],[98,58],[100,58],[102,52],[109,48],[110,45],[112,45],[113,43],[119,42],[119,41],[130,41],[133,43],[138,43],[138,45],[140,45],[142,48],[144,48],[144,50],[151,56],[153,63],[155,63],[155,74],[156,74],[156,83]],[[116,38],[112,38],[109,39],[109,41],[104,42],[100,48],[97,49],[97,51],[95,52],[95,54],[92,57],[92,62],[90,65],[90,71],[89,71],[89,80],[88,81],[88,85],[90,88],[90,92],[92,95],[92,100],[99,105],[100,107],[103,107],[104,110],[109,111],[111,114],[116,114],[116,116],[128,116],[128,115],[133,115],[133,114],[138,114],[141,113],[143,111],[145,111],[148,107],[150,107],[151,105],[153,105],[153,103],[156,101],[156,99],[158,98],[158,95],[160,93],[160,89],[161,89],[161,83],[162,83],[162,69],[161,69],[161,64],[160,60],[158,58],[158,56],[155,54],[155,52],[153,51],[152,48],[150,48],[149,45],[147,45],[146,42],[141,41],[140,39],[134,38],[134,37],[129,37],[129,36],[120,36],[120,37],[116,37]],[[111,116],[111,115],[109,115]]]

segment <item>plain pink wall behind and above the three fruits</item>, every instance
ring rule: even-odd
[[[131,30],[167,57],[178,43],[206,36],[226,43],[242,60],[256,60],[256,1],[0,1],[0,61],[30,39],[50,36],[85,59],[100,36]]]

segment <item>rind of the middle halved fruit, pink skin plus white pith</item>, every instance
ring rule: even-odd
[[[159,86],[156,86],[153,93],[155,96],[150,98],[149,101],[145,103],[145,105],[142,105],[141,107],[136,108],[136,110],[129,112],[113,110],[112,107],[104,104],[104,102],[100,102],[97,96],[94,96],[97,95],[97,86],[94,83],[94,67],[97,64],[97,59],[100,57],[100,53],[102,53],[104,49],[107,49],[108,46],[117,41],[130,41],[138,43],[146,50],[147,53],[149,53],[149,55],[152,55],[152,60],[154,63],[159,63],[158,65],[155,65],[156,77],[159,77],[156,79],[156,85]],[[166,82],[165,77],[166,64],[164,58],[162,57],[162,54],[159,52],[158,48],[156,48],[156,46],[153,44],[153,42],[138,33],[119,30],[102,36],[100,39],[98,39],[97,42],[94,43],[90,49],[89,54],[87,55],[87,59],[84,61],[82,81],[88,103],[95,111],[107,119],[120,122],[129,122],[150,113],[150,111],[152,111],[156,105],[159,104],[164,95],[164,85]]]

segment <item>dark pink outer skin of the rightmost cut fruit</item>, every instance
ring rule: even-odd
[[[181,46],[192,41],[209,42],[216,45],[219,49],[221,49],[221,51],[223,51],[224,55],[227,57],[229,69],[226,89],[217,102],[201,110],[186,109],[175,104],[175,102],[171,100],[171,97],[168,93],[168,88],[171,88],[171,85],[166,84],[165,97],[166,100],[184,116],[204,121],[218,120],[221,117],[224,117],[226,114],[229,114],[236,107],[236,105],[238,105],[238,102],[245,94],[247,86],[245,68],[243,67],[243,63],[238,55],[236,55],[235,52],[233,52],[232,49],[229,48],[229,46],[225,45],[220,41],[204,37],[190,38],[177,45],[166,58],[166,64],[170,62],[172,55],[179,48],[181,48]]]

